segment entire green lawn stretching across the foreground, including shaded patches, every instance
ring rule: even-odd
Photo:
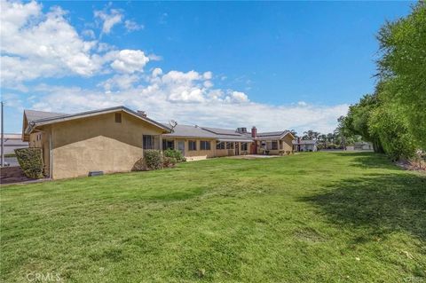
[[[4,186],[0,260],[4,282],[426,282],[426,177],[303,153]]]

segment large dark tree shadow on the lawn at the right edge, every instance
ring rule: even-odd
[[[404,231],[426,240],[426,177],[375,174],[344,179],[329,189],[303,200],[332,223],[367,228],[372,237]]]

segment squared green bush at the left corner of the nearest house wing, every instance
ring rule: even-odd
[[[43,177],[43,157],[41,148],[15,149],[16,158],[25,176],[32,178]]]

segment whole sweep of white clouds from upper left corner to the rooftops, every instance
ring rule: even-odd
[[[104,33],[123,20],[118,10],[95,13],[102,20]],[[36,2],[2,2],[2,87],[26,91],[28,81],[66,75],[102,74],[106,79],[97,82],[98,88],[94,89],[39,84],[31,87],[33,97],[25,99],[8,92],[7,98],[17,101],[17,109],[23,101],[34,109],[65,113],[126,105],[146,110],[159,121],[175,119],[231,129],[256,125],[262,131],[321,132],[334,130],[336,119],[347,111],[347,105],[315,106],[303,101],[282,106],[256,103],[250,101],[247,93],[215,89],[211,72],[163,72],[154,67],[142,74],[149,61],[158,59],[156,55],[139,50],[120,51],[107,43],[84,40],[65,15],[58,7],[43,13],[41,4]],[[86,38],[93,38],[93,34],[83,32]],[[217,80],[225,78],[221,75]]]

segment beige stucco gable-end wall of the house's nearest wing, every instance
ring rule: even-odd
[[[161,130],[122,112],[101,114],[51,127],[52,177],[87,176],[89,171],[130,171],[143,157],[142,135],[159,135]]]

